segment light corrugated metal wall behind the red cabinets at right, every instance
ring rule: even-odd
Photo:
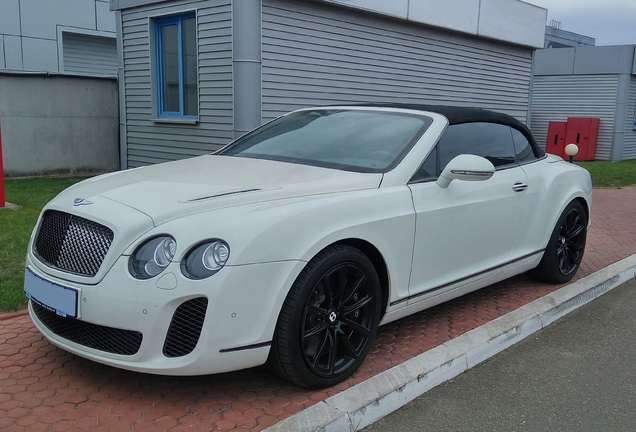
[[[596,159],[609,160],[617,89],[618,75],[536,76],[532,87],[531,129],[539,145],[545,148],[550,121],[598,117]]]

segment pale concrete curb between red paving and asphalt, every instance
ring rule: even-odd
[[[636,254],[318,402],[266,431],[358,431],[634,277]]]

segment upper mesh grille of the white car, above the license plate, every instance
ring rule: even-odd
[[[82,276],[95,276],[113,238],[113,231],[97,222],[47,210],[42,217],[35,252],[51,267]]]

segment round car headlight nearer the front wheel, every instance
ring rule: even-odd
[[[205,279],[223,268],[230,247],[223,240],[209,240],[194,247],[181,261],[181,272],[189,279]]]

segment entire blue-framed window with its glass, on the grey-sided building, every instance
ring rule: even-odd
[[[159,117],[199,115],[194,13],[155,20]]]

